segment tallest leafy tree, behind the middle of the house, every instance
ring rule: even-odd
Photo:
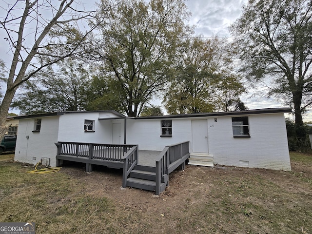
[[[124,112],[136,117],[172,77],[176,47],[190,30],[184,23],[189,12],[184,0],[118,2],[101,27],[105,45],[99,54],[106,76],[118,83]]]

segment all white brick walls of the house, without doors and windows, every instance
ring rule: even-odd
[[[50,165],[55,166],[57,148],[54,142],[111,143],[112,123],[121,123],[123,143],[124,120],[98,120],[98,117],[98,113],[42,117],[40,133],[31,132],[34,119],[20,119],[15,160],[37,163],[41,157],[50,157]],[[94,133],[84,132],[84,119],[95,120]],[[242,163],[248,162],[249,167],[291,169],[284,114],[249,116],[250,138],[233,137],[232,117],[206,119],[208,149],[215,163],[244,166]],[[138,144],[141,150],[161,151],[166,145],[192,141],[192,118],[173,118],[172,132],[172,137],[160,137],[161,119],[127,119],[127,143]],[[190,152],[191,147],[190,142]]]

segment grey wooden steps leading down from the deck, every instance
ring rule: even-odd
[[[127,186],[156,191],[156,168],[148,166],[135,166],[127,178]],[[160,183],[160,192],[163,192],[168,186],[168,175],[163,176]]]

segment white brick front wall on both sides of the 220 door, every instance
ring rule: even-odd
[[[161,119],[127,121],[127,142],[139,144],[141,150],[161,151],[166,145],[192,142],[191,118],[172,119],[173,137],[160,137]],[[249,116],[250,138],[233,137],[232,117],[207,121],[208,149],[215,163],[241,167],[248,162],[249,167],[291,170],[284,114]]]

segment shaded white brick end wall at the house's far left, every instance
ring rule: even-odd
[[[56,165],[59,117],[41,119],[39,133],[33,133],[35,119],[20,119],[14,160],[36,164],[42,157],[50,158],[50,165]],[[26,136],[29,136],[27,139]]]

